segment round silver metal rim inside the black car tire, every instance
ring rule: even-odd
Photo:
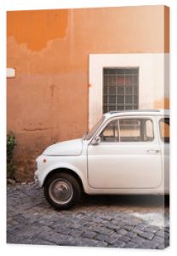
[[[57,204],[66,204],[71,201],[73,189],[66,179],[55,179],[49,185],[49,196]]]

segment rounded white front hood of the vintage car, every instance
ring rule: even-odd
[[[45,155],[79,155],[83,150],[82,139],[70,140],[62,143],[55,143],[43,151]]]

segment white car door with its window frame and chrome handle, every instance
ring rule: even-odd
[[[162,160],[156,119],[111,119],[88,144],[88,183],[98,189],[156,188],[162,182]]]

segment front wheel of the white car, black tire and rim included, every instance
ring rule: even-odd
[[[77,179],[71,174],[58,172],[45,181],[44,195],[52,207],[66,210],[79,201],[81,188]]]

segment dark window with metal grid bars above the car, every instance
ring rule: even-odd
[[[103,113],[139,108],[139,68],[103,68]]]

